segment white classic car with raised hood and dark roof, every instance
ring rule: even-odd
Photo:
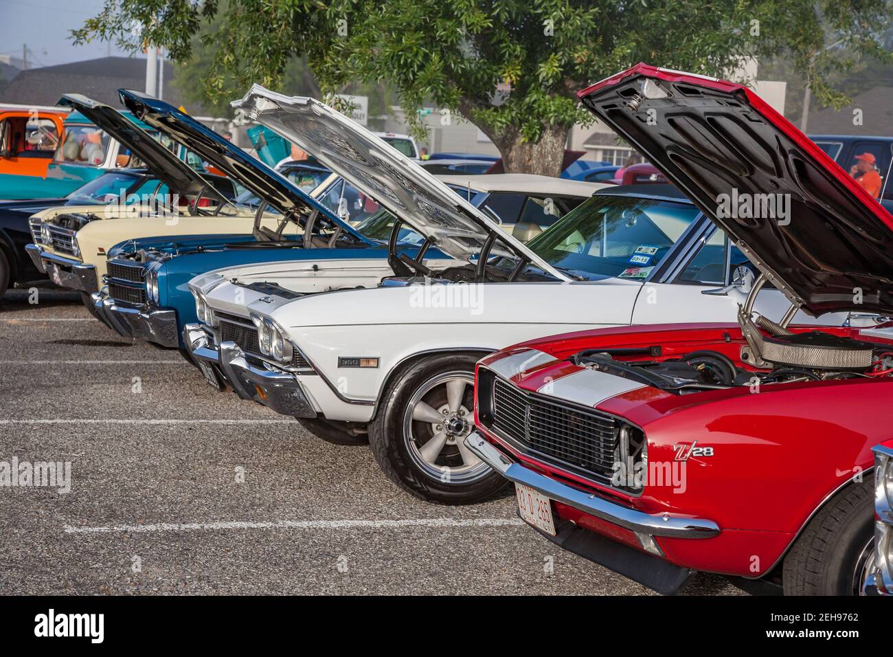
[[[463,444],[483,355],[598,326],[728,323],[753,284],[747,257],[672,187],[600,190],[524,245],[327,105],[257,86],[233,105],[396,217],[396,275],[373,289],[316,294],[286,289],[279,270],[270,273],[276,284],[261,270],[198,276],[190,289],[200,324],[186,326],[187,349],[240,397],[322,437],[368,432],[382,469],[425,499],[480,501],[503,485]],[[399,254],[405,240],[421,243],[418,257]],[[455,262],[421,264],[429,248]],[[316,276],[313,263],[290,271],[305,282]],[[764,290],[756,305],[772,315],[789,304]]]

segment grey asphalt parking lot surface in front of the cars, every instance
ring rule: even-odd
[[[0,408],[0,461],[71,462],[70,493],[0,487],[0,594],[649,593],[522,526],[512,496],[410,497],[367,448],[213,392],[66,293],[0,304]]]

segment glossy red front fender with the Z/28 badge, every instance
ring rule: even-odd
[[[643,425],[649,479],[638,504],[712,518],[727,540],[750,536],[734,543],[737,548],[725,544],[727,568],[719,570],[737,566],[739,574],[755,576],[780,559],[834,493],[868,476],[872,447],[889,435],[880,417],[893,382],[848,379],[736,392],[676,407]],[[686,458],[692,447],[701,451]],[[652,485],[659,467],[672,481]],[[701,548],[670,540],[664,549],[684,561]]]

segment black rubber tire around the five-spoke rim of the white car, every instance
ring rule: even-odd
[[[388,383],[388,387],[381,397],[378,412],[369,425],[369,444],[381,469],[391,481],[422,500],[442,504],[474,504],[494,497],[508,484],[502,476],[482,462],[480,466],[470,467],[470,470],[464,475],[456,476],[456,481],[451,480],[452,476],[443,474],[452,473],[453,466],[432,464],[430,470],[426,470],[420,461],[421,452],[417,449],[425,442],[421,442],[420,445],[417,441],[425,438],[430,440],[434,430],[427,428],[431,425],[425,422],[408,419],[413,397],[423,392],[426,386],[430,385],[432,381],[438,380],[438,377],[470,375],[473,381],[474,364],[477,359],[478,357],[472,354],[447,354],[421,358],[403,367]],[[451,442],[445,444],[435,457],[438,460],[442,459],[444,463],[455,463],[456,468],[461,468],[463,465],[460,464],[464,464],[463,456],[456,442],[463,440],[463,436],[473,428],[473,414],[469,412],[469,409],[473,408],[472,388],[472,385],[466,385],[463,392],[462,409],[467,413],[463,420],[467,423],[463,433],[456,434],[458,437],[451,435],[449,439]],[[433,388],[428,394],[438,395],[439,393],[438,388]],[[433,399],[427,395],[421,398],[421,400]],[[438,401],[432,403],[436,405],[432,406],[432,409],[438,408]],[[415,440],[405,431],[407,422],[413,432],[418,433]],[[445,422],[444,425],[446,426],[447,423]],[[426,435],[426,431],[430,433]],[[431,471],[436,467],[440,467],[442,470],[439,477]],[[459,469],[455,471],[460,472]]]

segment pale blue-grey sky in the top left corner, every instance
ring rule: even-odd
[[[0,0],[0,55],[21,59],[21,46],[28,44],[29,67],[104,57],[106,44],[74,46],[70,38],[71,29],[96,16],[103,4],[103,0]],[[112,55],[127,54],[113,46]]]

